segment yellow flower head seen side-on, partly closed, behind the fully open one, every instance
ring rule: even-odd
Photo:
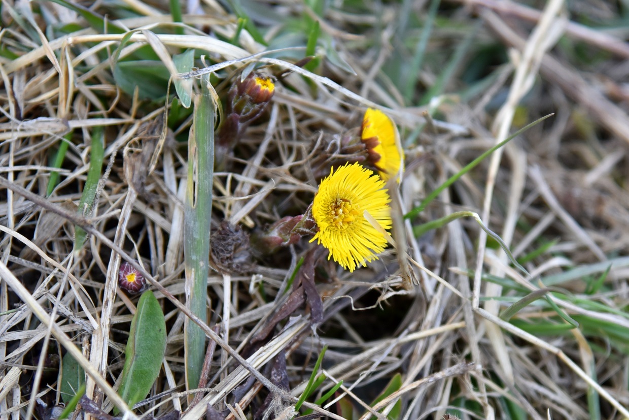
[[[398,176],[404,162],[404,152],[396,137],[398,132],[391,118],[372,108],[365,111],[360,139],[367,147],[367,159],[378,169],[384,181]]]

